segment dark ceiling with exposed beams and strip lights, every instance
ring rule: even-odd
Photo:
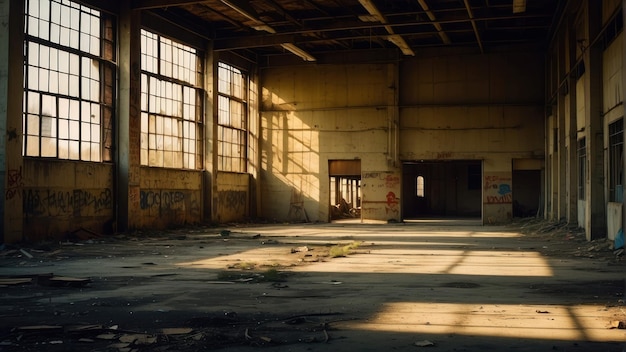
[[[214,49],[316,61],[329,53],[545,44],[566,0],[134,0]],[[297,57],[296,56],[296,57]]]

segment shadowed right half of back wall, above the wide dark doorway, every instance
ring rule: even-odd
[[[432,50],[401,66],[400,158],[484,160],[485,222],[512,217],[512,160],[544,158],[544,59],[525,49]]]

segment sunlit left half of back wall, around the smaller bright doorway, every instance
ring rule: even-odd
[[[394,71],[392,64],[261,71],[262,217],[288,220],[296,196],[310,221],[328,221],[328,160],[360,159],[363,175],[393,171],[399,180],[398,169],[388,163],[388,116],[393,109],[388,99]],[[379,206],[391,190],[368,195],[365,187],[363,214],[388,219]],[[399,190],[395,194],[399,197]]]

